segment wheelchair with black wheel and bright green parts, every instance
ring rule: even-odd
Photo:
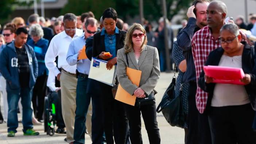
[[[47,135],[53,136],[55,133],[55,125],[56,109],[49,90],[47,96],[44,97],[44,132],[46,132]]]

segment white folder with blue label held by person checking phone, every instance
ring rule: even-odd
[[[92,58],[90,72],[88,78],[105,83],[107,85],[114,85],[114,78],[116,75],[116,65],[113,65],[111,70],[106,68],[107,61]]]

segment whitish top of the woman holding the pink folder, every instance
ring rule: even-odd
[[[242,68],[242,56],[222,55],[219,66]],[[250,103],[243,85],[216,83],[213,91],[212,106],[232,106]]]

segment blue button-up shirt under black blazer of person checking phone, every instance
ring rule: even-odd
[[[102,29],[101,35],[105,35],[104,43],[105,43],[105,52],[110,52],[113,56],[110,58],[116,57],[116,35],[119,34],[119,30],[116,27],[115,33],[113,35],[108,35],[105,31],[105,28]]]

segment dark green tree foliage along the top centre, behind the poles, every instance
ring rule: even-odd
[[[193,0],[166,0],[167,17],[169,20],[181,9],[187,9]],[[163,15],[162,0],[143,0],[144,17],[148,20],[158,20]],[[123,20],[127,16],[139,15],[139,0],[68,0],[68,3],[61,11],[81,15],[84,12],[92,11],[96,19],[100,19],[106,8],[116,9],[118,16]]]

